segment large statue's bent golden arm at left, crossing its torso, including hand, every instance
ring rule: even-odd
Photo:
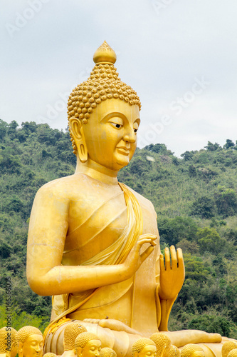
[[[142,254],[143,243],[154,237],[144,236],[122,264],[112,266],[62,266],[63,248],[68,231],[70,200],[47,190],[38,191],[31,211],[27,245],[27,280],[38,295],[59,295],[85,291],[119,283],[130,278],[151,253]]]

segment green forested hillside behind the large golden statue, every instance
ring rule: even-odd
[[[33,198],[44,183],[75,171],[68,131],[48,124],[0,120],[0,328],[48,325],[51,297],[26,281],[26,242]],[[237,338],[237,142],[206,144],[181,159],[164,144],[137,149],[119,181],[147,197],[157,211],[162,251],[184,253],[186,278],[169,330],[196,328]]]

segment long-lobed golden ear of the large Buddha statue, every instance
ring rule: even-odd
[[[70,134],[72,134],[75,141],[75,146],[78,151],[78,156],[81,162],[88,160],[88,148],[85,143],[85,135],[83,131],[83,124],[78,118],[70,118],[69,120]]]

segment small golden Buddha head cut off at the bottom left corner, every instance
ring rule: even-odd
[[[12,327],[0,329],[0,357],[15,357],[17,354],[16,330]]]

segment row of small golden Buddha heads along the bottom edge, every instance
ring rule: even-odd
[[[63,338],[62,357],[117,357],[112,348],[103,346],[100,338],[86,330],[80,323],[68,323]],[[43,334],[33,326],[0,329],[0,357],[56,357],[55,353],[43,354]],[[237,343],[223,343],[222,357],[237,357]],[[164,333],[153,333],[149,338],[139,338],[132,345],[132,357],[205,357],[203,348],[189,343],[182,348],[173,346]]]

